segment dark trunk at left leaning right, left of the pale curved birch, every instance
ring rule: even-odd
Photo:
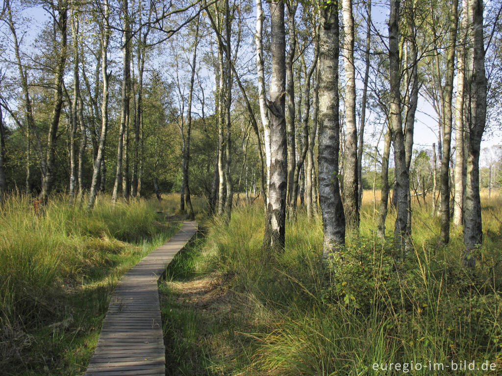
[[[47,160],[42,192],[40,192],[39,200],[44,202],[52,191],[52,183],[54,180],[55,162],[56,162],[56,136],[59,125],[59,117],[61,116],[61,107],[63,105],[63,73],[66,63],[66,39],[67,39],[67,22],[68,22],[68,3],[66,0],[59,0],[57,4],[58,10],[58,28],[61,33],[59,44],[58,63],[56,66],[56,77],[54,79],[54,108],[52,110],[52,119],[49,127],[49,135],[47,137]]]

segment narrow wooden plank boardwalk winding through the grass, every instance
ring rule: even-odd
[[[122,276],[85,376],[164,376],[166,359],[157,281],[197,229],[196,222],[184,222],[176,235]]]

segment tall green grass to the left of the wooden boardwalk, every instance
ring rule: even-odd
[[[119,277],[180,227],[155,203],[69,208],[42,215],[29,197],[0,209],[0,369],[6,375],[76,375],[94,350]]]

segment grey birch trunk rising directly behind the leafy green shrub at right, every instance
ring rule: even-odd
[[[410,179],[406,168],[406,150],[401,122],[401,75],[399,70],[399,8],[400,0],[391,0],[389,16],[389,61],[390,61],[390,126],[394,143],[394,163],[396,171],[397,217],[395,224],[395,243],[400,250],[411,244],[408,232],[408,195]]]

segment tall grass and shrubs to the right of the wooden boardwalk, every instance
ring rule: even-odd
[[[502,200],[482,203],[474,273],[462,268],[461,231],[440,245],[430,206],[414,207],[415,252],[401,263],[392,246],[395,214],[381,242],[365,202],[360,235],[347,238],[336,268],[320,260],[319,218],[300,212],[288,221],[277,257],[261,247],[260,203],[235,208],[228,225],[214,219],[198,250],[168,267],[161,287],[167,374],[396,374],[372,365],[460,360],[496,363],[491,373],[465,374],[501,374]]]

